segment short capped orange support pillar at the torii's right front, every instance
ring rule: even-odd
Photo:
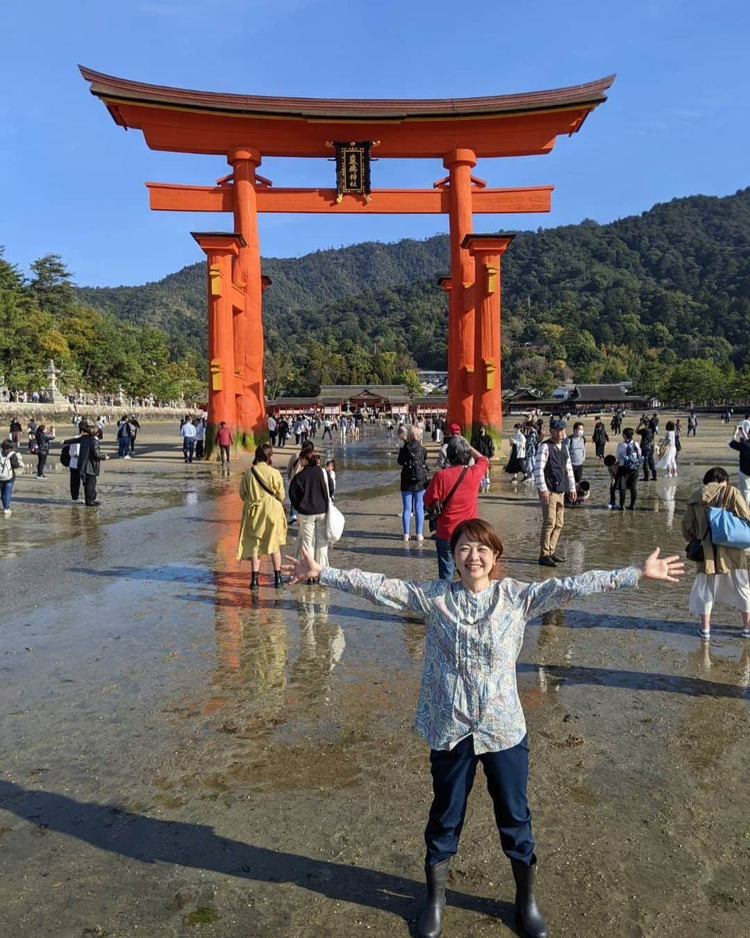
[[[472,434],[483,423],[495,442],[503,429],[501,383],[501,258],[515,235],[469,234],[461,247],[474,264]],[[470,435],[467,433],[467,435]]]

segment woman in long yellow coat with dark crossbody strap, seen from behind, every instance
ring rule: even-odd
[[[240,482],[242,522],[237,544],[237,560],[250,561],[250,589],[259,588],[258,571],[261,557],[271,555],[274,565],[274,585],[281,586],[281,553],[279,548],[287,542],[287,517],[281,504],[284,482],[281,473],[273,467],[274,450],[262,443],[255,450],[252,466]]]

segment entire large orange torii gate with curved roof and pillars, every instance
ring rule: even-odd
[[[448,417],[470,432],[499,432],[501,258],[511,234],[473,234],[474,214],[548,212],[551,186],[488,189],[477,159],[548,153],[607,100],[614,75],[552,91],[488,98],[345,100],[269,98],[190,91],[81,68],[91,93],[152,149],[220,154],[232,173],[216,186],[146,183],[152,209],[232,212],[233,231],[195,232],[207,258],[209,422],[225,420],[254,445],[265,432],[263,288],[259,212],[446,214]],[[330,157],[333,141],[377,138],[379,159],[442,159],[431,189],[275,189],[257,173],[264,156]]]

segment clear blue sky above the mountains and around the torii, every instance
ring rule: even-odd
[[[639,213],[750,183],[746,0],[10,0],[0,79],[0,244],[26,267],[55,251],[81,284],[158,280],[203,255],[191,229],[229,217],[150,212],[146,179],[207,185],[221,159],[149,150],[114,125],[77,63],[143,82],[246,94],[448,98],[591,81],[610,97],[552,154],[480,161],[490,185],[554,184],[549,215],[477,231]],[[455,23],[454,10],[465,12]],[[277,185],[333,184],[323,160],[265,159]],[[430,186],[437,160],[382,160],[373,186]],[[440,216],[264,216],[265,256],[425,237]]]

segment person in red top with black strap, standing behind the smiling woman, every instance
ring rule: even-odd
[[[479,514],[479,486],[488,472],[489,461],[478,449],[469,446],[462,436],[450,438],[446,458],[447,466],[430,480],[425,492],[425,507],[429,508],[433,502],[443,503],[435,538],[438,576],[441,580],[453,580],[456,567],[451,553],[451,535],[458,522],[476,518]],[[472,459],[474,462],[470,465]],[[454,486],[456,489],[451,494]]]

